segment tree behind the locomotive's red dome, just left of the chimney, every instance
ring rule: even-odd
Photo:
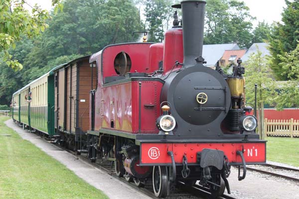
[[[162,42],[164,32],[168,29],[168,24],[173,16],[171,0],[146,0],[145,4],[145,26],[144,30],[149,30],[150,42]]]

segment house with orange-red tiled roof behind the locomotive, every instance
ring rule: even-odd
[[[244,56],[247,49],[242,50],[225,50],[220,59],[220,66],[226,67],[229,64],[237,65],[237,60]]]

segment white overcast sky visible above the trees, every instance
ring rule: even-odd
[[[241,0],[239,0],[241,1]],[[268,23],[281,20],[283,7],[286,6],[285,0],[243,0],[250,8],[250,14],[257,18],[253,21],[257,25],[258,21],[265,20]],[[44,9],[51,9],[51,0],[26,0],[28,4],[39,4]]]

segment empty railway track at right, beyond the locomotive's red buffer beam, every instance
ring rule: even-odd
[[[271,176],[281,177],[287,180],[299,182],[299,169],[277,166],[272,164],[251,165],[248,170],[268,174]]]

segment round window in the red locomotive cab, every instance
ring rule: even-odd
[[[118,75],[125,75],[131,70],[131,58],[125,52],[120,52],[114,59],[114,69]]]

